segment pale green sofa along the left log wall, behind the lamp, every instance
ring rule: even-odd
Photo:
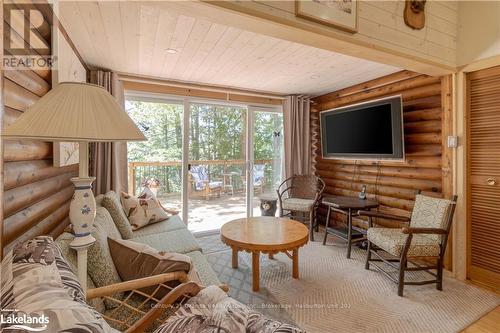
[[[120,203],[119,195],[110,191],[96,197],[97,213],[92,235],[96,242],[88,251],[87,288],[103,287],[122,282],[109,253],[107,238],[127,239],[147,244],[158,251],[185,254],[191,259],[188,278],[202,286],[221,285],[193,234],[178,215],[168,220],[132,230]],[[56,239],[72,269],[76,271],[76,252],[69,247],[74,236],[64,232]],[[102,308],[94,303],[94,307]]]

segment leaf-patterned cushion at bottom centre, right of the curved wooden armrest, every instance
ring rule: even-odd
[[[230,298],[216,286],[201,290],[163,323],[155,333],[303,333]]]

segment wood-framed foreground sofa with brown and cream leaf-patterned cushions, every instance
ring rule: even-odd
[[[157,299],[156,290],[176,280],[171,273],[94,288],[85,295],[67,259],[49,236],[19,243],[6,254],[0,267],[0,331],[304,333],[237,302],[216,286],[188,281],[167,288],[168,294]],[[152,293],[143,289],[155,285]],[[123,298],[114,310],[101,311],[88,301],[110,299],[116,292]]]

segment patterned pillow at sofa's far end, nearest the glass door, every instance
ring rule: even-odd
[[[132,230],[140,229],[148,224],[164,221],[171,214],[167,213],[158,199],[141,193],[139,197],[122,192],[121,203]]]

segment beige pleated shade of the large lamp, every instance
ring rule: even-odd
[[[104,88],[62,82],[22,114],[3,137],[44,141],[140,141],[141,131]]]

